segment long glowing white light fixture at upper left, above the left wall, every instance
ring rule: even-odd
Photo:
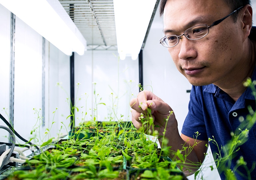
[[[0,0],[6,9],[66,55],[83,55],[86,40],[59,0]]]

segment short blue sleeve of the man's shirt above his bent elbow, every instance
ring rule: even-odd
[[[189,112],[182,127],[182,134],[198,140],[208,140],[204,122],[203,87],[192,86],[190,93]]]

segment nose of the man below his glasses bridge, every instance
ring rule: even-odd
[[[178,45],[180,45],[180,52],[179,52],[179,58],[184,60],[190,60],[194,59],[197,56],[197,51],[194,46],[194,42],[192,40],[189,40],[185,37],[180,37],[180,42]]]

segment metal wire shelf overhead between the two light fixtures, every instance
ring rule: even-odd
[[[113,0],[59,0],[87,41],[87,50],[117,50]]]

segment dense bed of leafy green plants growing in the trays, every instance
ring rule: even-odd
[[[114,101],[112,111],[115,118],[110,118],[107,121],[98,121],[96,118],[97,105],[104,103],[100,102],[101,98],[95,92],[95,84],[93,94],[94,114],[92,114],[91,120],[81,121],[79,125],[72,126],[71,134],[66,137],[67,139],[54,142],[54,139],[50,138],[48,141],[43,142],[41,145],[41,154],[35,155],[32,159],[28,160],[23,164],[23,167],[46,169],[47,171],[56,168],[62,168],[68,171],[70,168],[73,172],[70,179],[113,179],[118,177],[118,171],[115,171],[115,169],[119,169],[120,171],[124,168],[124,156],[128,159],[127,157],[131,157],[130,155],[138,155],[141,157],[136,160],[140,162],[138,165],[139,168],[155,168],[153,164],[156,162],[158,164],[157,168],[176,168],[175,162],[159,162],[162,155],[167,157],[169,148],[158,148],[156,141],[147,140],[145,133],[149,129],[137,130],[131,122],[124,122],[123,119],[117,118]],[[80,111],[80,107],[77,107],[76,103],[72,106],[70,105],[70,107],[73,113],[67,118],[74,117],[74,111],[72,110],[76,112]],[[113,121],[113,119],[117,121]],[[145,118],[145,122],[150,125],[153,124],[150,114]],[[146,127],[146,123],[144,125]],[[93,136],[79,137],[79,135],[85,133],[93,133]],[[42,148],[48,146],[54,146],[54,148],[43,151]],[[77,155],[79,158],[73,155]],[[145,162],[148,162],[148,166],[145,166]],[[143,163],[144,166],[142,165]],[[151,166],[149,166],[150,164]],[[78,165],[81,168],[74,169],[72,165]],[[74,174],[75,171],[77,171],[77,174]]]

